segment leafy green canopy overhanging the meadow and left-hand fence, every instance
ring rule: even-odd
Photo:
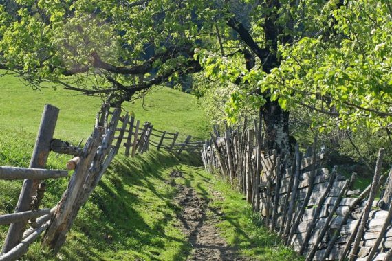
[[[0,69],[41,87],[109,102],[202,69],[208,1],[7,1],[0,5]],[[207,26],[208,27],[208,26]]]

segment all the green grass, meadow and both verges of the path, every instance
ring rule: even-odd
[[[74,95],[65,91],[44,89],[42,93],[21,87],[14,78],[0,78],[0,166],[28,166],[34,139],[45,103],[61,109],[55,136],[75,142],[87,138],[94,124],[99,99]],[[128,104],[135,116],[149,120],[156,128],[180,131],[198,139],[206,133],[206,120],[193,98],[172,89],[155,91],[146,98],[153,104],[142,110],[140,102]],[[50,155],[49,168],[63,168],[67,156]],[[183,162],[197,165],[188,157]],[[217,205],[227,215],[220,225],[228,242],[245,247],[260,260],[293,259],[292,252],[276,244],[276,237],[255,227],[250,209],[244,207],[241,195],[227,185],[214,181],[206,172],[186,165],[167,153],[150,152],[135,159],[117,157],[105,174],[89,202],[80,211],[61,253],[63,260],[184,260],[190,246],[173,226],[179,207],[173,203],[176,190],[167,183],[172,168],[183,168],[189,174],[186,182],[202,193],[213,190],[224,194]],[[197,173],[197,174],[192,174]],[[199,180],[208,177],[208,182]],[[204,182],[204,183],[203,183]],[[54,205],[65,190],[67,181],[48,181],[43,205]],[[0,214],[12,212],[19,195],[21,182],[0,181]],[[241,212],[238,209],[241,208]],[[235,220],[235,222],[232,222]],[[0,226],[2,241],[7,227]],[[246,235],[246,236],[244,236]],[[272,247],[273,246],[273,247]],[[25,256],[28,260],[52,260],[36,243]],[[276,259],[276,258],[274,258]]]

